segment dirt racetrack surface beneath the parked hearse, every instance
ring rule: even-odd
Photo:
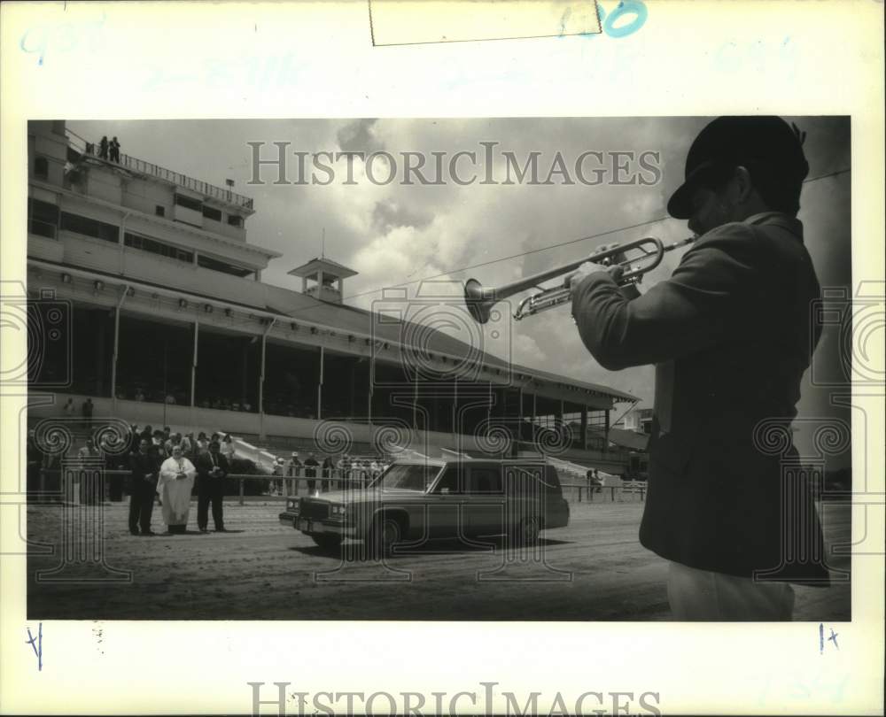
[[[31,506],[31,541],[54,554],[28,555],[28,619],[92,620],[669,620],[667,563],[637,540],[642,505],[571,504],[568,528],[542,533],[537,554],[437,543],[394,555],[386,564],[321,551],[277,521],[270,501],[225,506],[231,532],[196,532],[196,503],[184,536],[130,536],[127,505],[105,505],[108,567],[131,571],[123,582],[35,582],[35,572],[65,565],[62,576],[104,573],[68,569],[62,559],[62,508]],[[67,509],[70,510],[70,509]],[[846,504],[825,505],[828,544],[848,543]],[[162,530],[159,508],[153,528]],[[95,550],[95,548],[93,548]],[[433,552],[428,552],[432,550]],[[543,555],[543,559],[541,558]],[[521,561],[525,557],[527,560]],[[848,557],[830,566],[849,569]],[[89,566],[87,566],[89,567]],[[78,572],[80,571],[80,572]],[[125,576],[124,576],[125,577]],[[796,587],[796,620],[851,618],[847,583]]]

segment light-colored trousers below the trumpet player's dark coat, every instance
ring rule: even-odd
[[[667,598],[679,621],[789,621],[794,590],[787,582],[755,582],[671,563]]]

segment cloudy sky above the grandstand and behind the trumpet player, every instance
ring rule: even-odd
[[[850,165],[850,124],[845,118],[789,118],[807,133],[805,150],[810,177],[846,169]],[[595,246],[627,242],[646,235],[674,241],[690,233],[685,221],[665,219],[648,227],[616,231],[605,237],[575,241],[620,227],[665,216],[667,197],[683,176],[689,144],[705,118],[639,119],[470,119],[470,120],[169,120],[70,121],[68,127],[89,141],[117,135],[121,151],[200,180],[235,189],[254,197],[256,213],[247,220],[248,241],[283,252],[263,274],[264,281],[292,289],[286,272],[320,253],[325,228],[326,255],[359,272],[346,283],[347,303],[370,308],[379,289],[408,286],[414,295],[426,278],[465,281],[475,276],[485,285],[499,286],[525,275],[582,258]],[[275,142],[290,143],[289,151],[390,152],[397,160],[397,180],[378,186],[367,179],[361,161],[354,161],[354,184],[346,184],[346,160],[334,163],[334,181],[321,185],[275,185],[276,169],[265,168],[263,186],[247,184],[252,177],[252,148],[264,142],[262,158],[276,157]],[[503,181],[502,152],[513,152],[522,165],[539,152],[540,181],[556,162],[557,153],[575,184],[563,183],[563,174],[548,186],[526,182],[481,185],[486,164],[481,142],[494,148],[494,178]],[[458,151],[478,152],[478,181],[459,186],[447,173],[448,161]],[[647,184],[613,186],[611,166],[596,186],[575,175],[577,158],[587,151],[657,152],[649,161],[660,172],[642,172]],[[442,186],[404,186],[401,152],[419,152],[426,158],[425,176],[433,180],[432,152],[445,152]],[[583,165],[588,181],[595,166],[590,156]],[[649,158],[649,156],[648,156]],[[328,162],[327,159],[323,159]],[[310,171],[310,155],[307,158]],[[462,180],[470,179],[470,162],[457,167]],[[373,167],[384,181],[384,161]],[[641,168],[628,162],[628,174]],[[328,173],[315,171],[326,181]],[[619,178],[625,179],[625,173]],[[660,177],[660,181],[657,181]],[[413,177],[415,179],[415,177]],[[299,179],[294,156],[287,179]],[[800,219],[806,243],[823,286],[850,283],[851,173],[805,185]],[[669,254],[646,283],[665,278],[680,258]],[[626,390],[650,405],[653,372],[650,367],[608,372],[598,366],[579,341],[569,312],[563,308],[524,320],[510,328],[512,358],[576,379]],[[829,340],[826,336],[826,341]]]

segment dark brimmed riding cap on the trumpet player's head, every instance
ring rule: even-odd
[[[719,117],[704,127],[689,148],[683,184],[672,194],[667,211],[674,219],[692,216],[692,195],[716,179],[727,179],[736,166],[758,168],[788,183],[809,173],[797,127],[781,117]]]

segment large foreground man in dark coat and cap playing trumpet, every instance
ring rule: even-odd
[[[790,444],[820,335],[797,220],[808,169],[783,120],[714,120],[668,203],[698,235],[671,278],[642,296],[619,287],[618,268],[585,265],[569,280],[579,334],[603,367],[656,365],[640,540],[671,561],[678,620],[789,620],[789,582],[828,584],[808,486],[789,490],[786,454],[761,450],[758,433],[775,420]]]

